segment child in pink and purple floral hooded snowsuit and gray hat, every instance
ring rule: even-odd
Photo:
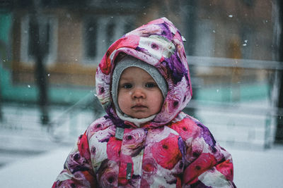
[[[231,155],[182,112],[192,88],[183,37],[169,20],[114,42],[96,92],[107,115],[79,137],[53,187],[236,187]]]

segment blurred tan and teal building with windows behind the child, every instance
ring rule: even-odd
[[[277,54],[276,12],[267,0],[1,0],[1,101],[37,102],[40,46],[48,103],[76,103],[94,89],[96,66],[110,44],[163,16],[187,39],[193,99],[230,106],[264,101],[274,106],[276,68],[268,64]],[[40,33],[37,42],[34,18]],[[237,124],[230,119],[231,125]],[[259,124],[265,127],[265,122],[264,116]]]

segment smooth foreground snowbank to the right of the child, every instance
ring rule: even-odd
[[[283,148],[262,150],[227,149],[233,156],[237,187],[282,187]]]

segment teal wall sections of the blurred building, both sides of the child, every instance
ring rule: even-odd
[[[0,86],[1,98],[3,101],[24,101],[36,102],[38,89],[34,84],[13,84],[11,67],[8,60],[7,50],[11,46],[11,23],[13,16],[11,13],[0,12]],[[54,87],[48,90],[49,101],[56,104],[75,104],[84,96],[90,94],[94,88],[81,87]],[[233,92],[238,94],[239,101],[250,101],[266,99],[269,96],[270,86],[267,82],[239,84],[238,86],[214,86],[202,89],[193,89],[196,95],[194,99],[200,101],[233,101]]]

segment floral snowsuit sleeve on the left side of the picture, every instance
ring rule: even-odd
[[[82,134],[69,153],[64,170],[58,175],[54,187],[96,187],[96,176],[91,165],[86,132]]]

